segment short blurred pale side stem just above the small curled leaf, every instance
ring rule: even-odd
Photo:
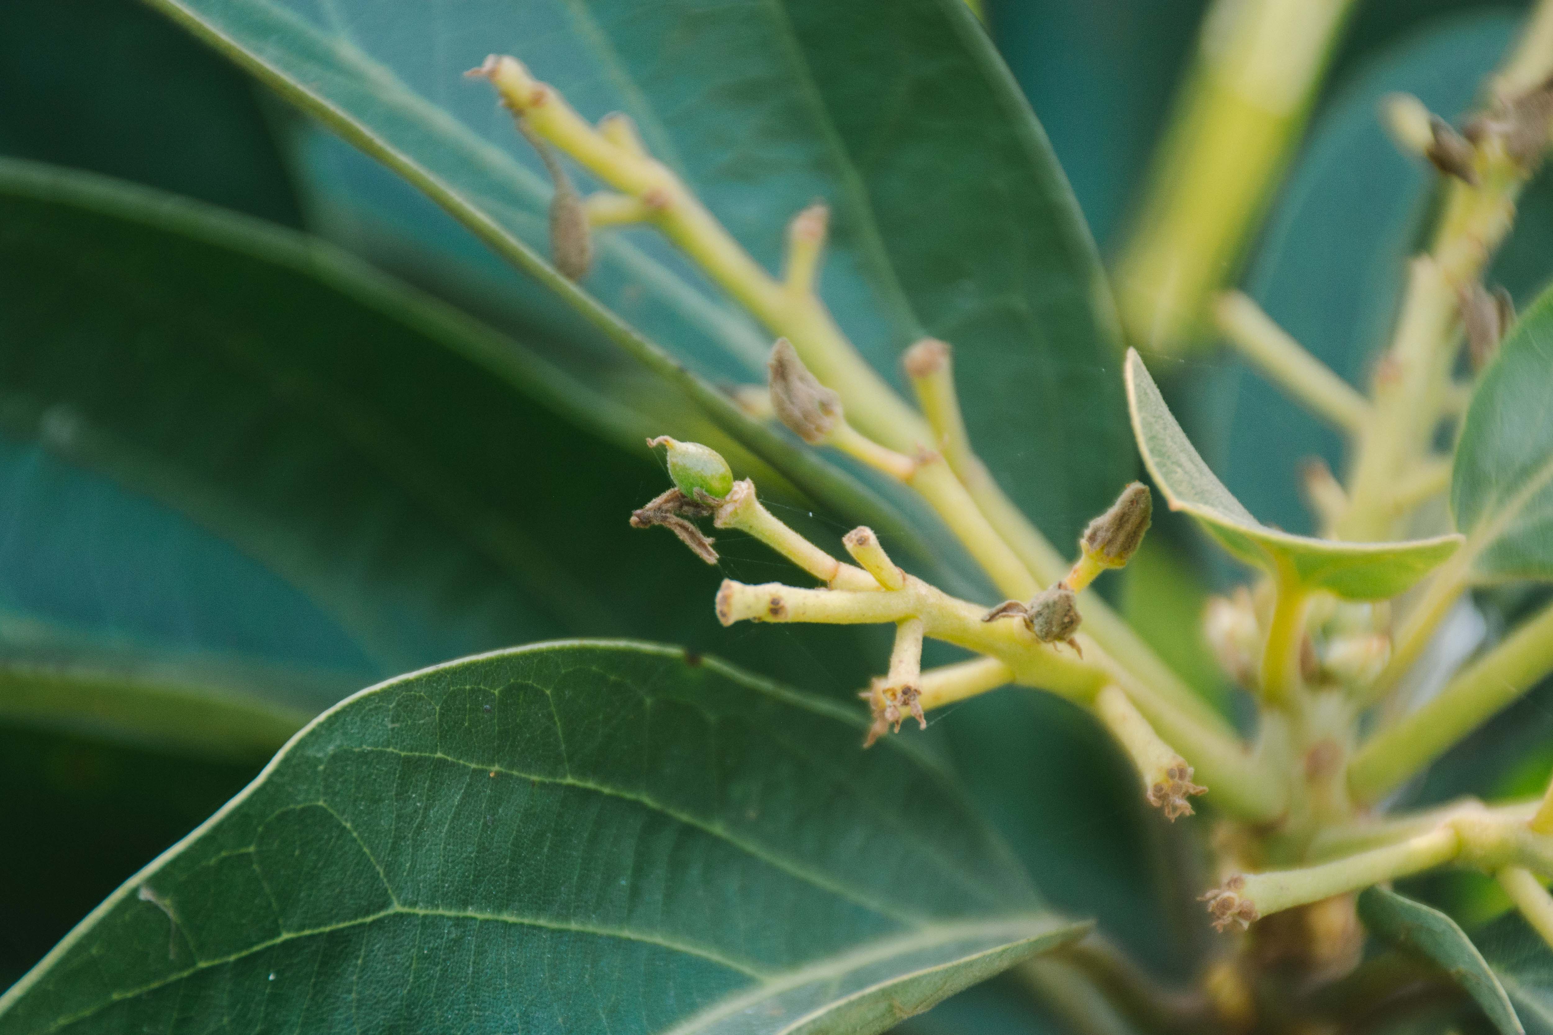
[[[1370,419],[1370,402],[1306,352],[1247,295],[1219,295],[1213,312],[1230,344],[1295,402],[1329,421],[1339,431],[1357,433]]]

